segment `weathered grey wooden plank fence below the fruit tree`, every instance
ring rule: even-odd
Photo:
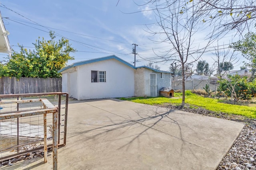
[[[1,77],[0,94],[62,92],[62,78]]]

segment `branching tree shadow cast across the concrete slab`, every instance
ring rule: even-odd
[[[114,140],[124,140],[126,138],[129,139],[129,142],[120,146],[118,148],[118,150],[124,149],[124,148],[126,150],[129,150],[131,144],[134,143],[134,141],[139,140],[140,136],[148,135],[147,132],[149,130],[158,131],[159,133],[163,133],[172,138],[176,138],[176,139],[180,140],[181,141],[181,145],[179,148],[181,150],[180,156],[182,156],[182,151],[183,151],[185,143],[187,143],[187,144],[189,143],[190,145],[195,145],[197,147],[200,147],[196,144],[190,143],[189,141],[186,141],[183,139],[181,126],[185,126],[189,129],[191,129],[191,128],[184,124],[180,125],[180,123],[178,123],[175,120],[175,116],[172,114],[175,112],[175,109],[166,110],[166,112],[162,113],[163,111],[161,109],[160,109],[160,111],[158,111],[158,107],[153,107],[151,109],[147,109],[147,112],[143,113],[143,114],[140,113],[140,111],[138,111],[138,110],[131,109],[131,111],[133,111],[133,113],[136,113],[136,116],[122,115],[119,113],[113,113],[113,112],[107,111],[108,113],[114,114],[118,118],[121,118],[121,119],[112,120],[110,117],[106,116],[106,119],[108,119],[108,121],[101,121],[100,124],[84,123],[84,125],[90,125],[94,128],[86,130],[86,131],[78,132],[78,133],[73,133],[72,135],[70,135],[70,137],[79,136],[79,135],[90,133],[90,132],[96,133],[94,135],[90,135],[90,136],[86,137],[86,139],[85,139],[85,140],[90,140],[90,139],[99,137],[100,135],[106,135],[109,132],[122,129],[122,132],[119,134],[119,136],[121,136],[122,134],[126,133],[128,130],[131,130],[132,128],[136,128],[136,131],[140,131],[140,130],[137,130],[137,128],[138,128],[137,126],[134,126],[136,124],[137,125],[139,124],[139,125],[142,125],[144,128],[141,128],[143,130],[140,131],[139,133],[137,133],[136,135],[128,135],[128,136],[126,135],[125,137],[118,137],[117,139],[112,139],[113,141]],[[175,112],[175,114],[180,114],[180,113]],[[170,116],[170,115],[172,115],[172,116]],[[136,117],[136,118],[134,118],[134,117]],[[172,117],[174,117],[174,118],[172,118]],[[174,123],[175,125],[177,125],[179,135],[175,136],[175,135],[172,135],[171,133],[168,133],[168,131],[166,132],[164,130],[161,130],[160,126],[158,126],[158,123],[160,123],[160,122],[166,123],[166,124]],[[150,135],[148,135],[148,139],[150,139]],[[192,150],[187,150],[187,152],[192,152]],[[195,154],[194,154],[194,156],[197,157]]]

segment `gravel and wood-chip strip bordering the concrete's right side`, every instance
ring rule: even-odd
[[[248,119],[241,115],[216,113],[203,108],[190,108],[189,105],[173,106],[171,104],[156,105],[169,109],[179,109],[190,113],[218,117],[245,124],[234,145],[224,156],[217,170],[256,170],[256,120]]]

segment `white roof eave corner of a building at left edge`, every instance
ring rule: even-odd
[[[9,35],[9,32],[6,31],[4,27],[4,22],[0,13],[0,53],[7,53],[9,56],[11,56],[12,51],[7,35]]]

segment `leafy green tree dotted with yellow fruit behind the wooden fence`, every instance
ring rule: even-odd
[[[3,66],[2,76],[60,78],[58,70],[65,67],[68,60],[74,59],[70,53],[74,53],[75,49],[70,46],[68,39],[62,37],[55,41],[54,33],[50,32],[49,35],[50,40],[40,40],[39,37],[33,43],[34,50],[19,45],[20,52],[13,51],[8,63]]]

